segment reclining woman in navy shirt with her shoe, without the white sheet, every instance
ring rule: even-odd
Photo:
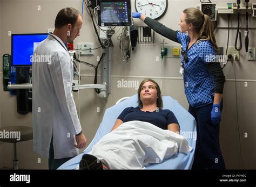
[[[159,85],[146,78],[139,85],[138,107],[127,107],[119,115],[111,131],[127,121],[145,121],[156,125],[163,130],[179,133],[178,120],[170,110],[162,110],[163,101]],[[107,169],[97,157],[84,154],[79,164],[79,169]]]

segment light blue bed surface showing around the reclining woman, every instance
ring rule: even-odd
[[[170,96],[162,96],[164,107],[163,109],[171,110],[179,121],[180,134],[187,138],[188,146],[193,150],[188,153],[178,153],[170,159],[166,159],[158,164],[151,164],[146,166],[146,169],[191,169],[194,160],[194,149],[196,147],[196,120],[190,113],[188,113],[178,102]],[[129,106],[138,106],[138,96],[133,95],[130,98],[106,109],[102,123],[96,132],[90,145],[83,151],[83,153],[65,162],[58,169],[76,169],[82,156],[92,150],[93,145],[97,143],[105,134],[109,133],[119,116],[119,114]]]

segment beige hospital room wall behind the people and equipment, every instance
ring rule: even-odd
[[[214,2],[221,2],[216,0]],[[225,2],[225,1],[222,1]],[[235,1],[230,1],[235,2]],[[251,2],[255,2],[251,1]],[[185,8],[194,7],[199,1],[192,0],[169,0],[169,8],[166,15],[159,19],[164,25],[179,30],[179,18]],[[54,27],[54,20],[57,12],[66,7],[72,6],[82,10],[80,0],[1,0],[0,1],[0,55],[11,53],[11,33],[45,33],[48,28]],[[40,8],[40,10],[39,10]],[[132,0],[134,11],[134,0]],[[236,15],[231,16],[230,46],[234,46],[235,27],[237,26]],[[80,37],[77,42],[95,42],[99,46],[92,22],[84,9],[84,24],[80,30]],[[242,18],[242,33],[244,33],[245,16]],[[249,19],[250,45],[256,47],[256,19]],[[143,26],[144,23],[134,19],[134,25]],[[116,29],[118,31],[118,28]],[[179,74],[180,59],[165,59],[156,61],[160,56],[160,42],[164,37],[156,33],[154,44],[137,44],[132,52],[128,63],[120,57],[119,40],[117,34],[112,37],[114,48],[111,52],[111,93],[107,99],[99,98],[93,89],[85,89],[78,93],[74,92],[77,110],[80,114],[80,122],[83,132],[87,138],[87,145],[92,141],[103,114],[107,107],[114,105],[118,99],[125,96],[132,96],[137,93],[136,88],[119,88],[120,82],[139,81],[145,77],[151,77],[161,85],[162,95],[170,95],[188,109],[188,103],[184,94],[183,78]],[[218,29],[215,33],[217,44],[220,47],[227,43],[227,18],[219,16]],[[168,44],[174,42],[165,39]],[[244,34],[242,34],[244,44]],[[100,50],[96,50],[94,56],[81,56],[81,59],[96,64]],[[240,61],[237,62],[237,95],[238,95],[238,121],[241,136],[242,160],[246,169],[256,169],[256,61],[247,61],[245,48],[240,52]],[[17,113],[16,97],[9,92],[3,91],[3,70],[2,60],[0,61],[0,126],[24,125],[32,127],[32,114],[21,115]],[[82,84],[93,83],[94,69],[80,66]],[[220,145],[223,152],[227,169],[243,169],[239,148],[239,132],[236,121],[235,82],[234,66],[229,62],[224,69],[226,83],[224,88],[224,110],[220,125]],[[100,75],[100,72],[98,73]],[[100,77],[98,77],[100,80]],[[246,84],[247,83],[247,84]],[[246,86],[247,85],[247,86]],[[122,85],[121,85],[122,87]],[[245,134],[247,133],[247,134]],[[48,160],[33,152],[32,140],[19,142],[17,144],[17,155],[19,168],[22,169],[48,169]],[[80,150],[82,151],[82,150]],[[0,168],[12,167],[13,147],[10,143],[0,145]]]

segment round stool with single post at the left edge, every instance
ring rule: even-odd
[[[9,127],[1,127],[0,132],[3,133],[3,138],[0,137],[0,141],[14,143],[14,169],[18,169],[18,159],[17,159],[17,149],[16,143],[20,141],[27,141],[33,139],[33,129],[27,126],[9,126]],[[6,137],[7,133],[11,134],[15,137]],[[14,133],[15,132],[15,133]],[[20,133],[17,135],[17,133]],[[19,139],[19,140],[17,140]]]

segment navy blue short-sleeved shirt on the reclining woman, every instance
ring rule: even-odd
[[[157,127],[167,130],[167,126],[169,124],[178,124],[177,118],[174,116],[173,112],[170,110],[161,110],[159,111],[142,111],[140,110],[139,106],[136,108],[134,107],[127,107],[123,110],[123,112],[118,116],[118,119],[122,120],[123,123],[127,121],[145,121],[156,125]]]

